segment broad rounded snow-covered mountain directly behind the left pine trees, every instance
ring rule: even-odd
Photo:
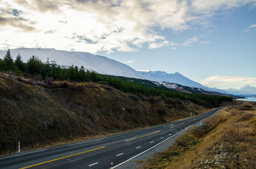
[[[28,61],[29,57],[35,55],[43,62],[46,62],[47,58],[49,58],[49,61],[56,61],[60,65],[71,66],[74,64],[76,66],[84,66],[87,70],[96,71],[100,74],[153,80],[126,64],[88,52],[68,52],[55,50],[54,48],[16,48],[10,49],[10,51],[13,59],[20,54],[25,62]],[[0,58],[3,58],[5,54],[6,51],[0,51]]]

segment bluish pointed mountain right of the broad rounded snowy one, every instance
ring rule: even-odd
[[[209,87],[205,87],[204,85],[199,84],[198,82],[190,80],[189,78],[184,77],[178,72],[166,73],[164,71],[141,71],[141,73],[143,73],[143,75],[155,78],[161,82],[170,82],[174,84],[186,85],[188,87],[200,88],[207,91],[209,90]]]

